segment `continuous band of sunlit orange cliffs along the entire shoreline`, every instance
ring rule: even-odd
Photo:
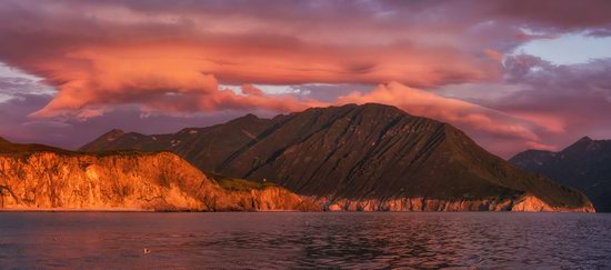
[[[330,199],[332,198],[332,199]],[[528,192],[488,198],[299,196],[270,182],[206,174],[171,152],[80,153],[0,141],[0,210],[573,211]]]

